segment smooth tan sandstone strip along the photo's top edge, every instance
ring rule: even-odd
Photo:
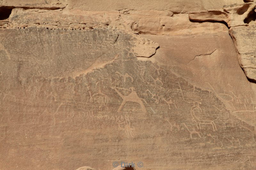
[[[244,0],[60,0],[62,4],[68,4],[67,9],[86,10],[86,11],[112,11],[112,10],[170,10],[175,13],[185,13],[189,11],[200,11],[210,9],[220,9],[224,5],[242,4]]]

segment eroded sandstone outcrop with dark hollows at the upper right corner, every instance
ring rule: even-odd
[[[224,11],[212,10],[189,13],[189,19],[191,20],[224,21],[231,27],[229,33],[236,46],[239,63],[247,78],[253,81],[256,81],[256,51],[253,48],[255,43],[253,35],[256,29],[255,22],[252,22],[256,18],[255,6],[255,3],[233,4],[224,6]]]

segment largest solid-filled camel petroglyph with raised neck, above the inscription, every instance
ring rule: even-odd
[[[134,87],[130,87],[129,90],[132,91],[130,94],[128,94],[127,96],[124,96],[122,93],[120,93],[116,88],[113,88],[117,94],[123,99],[123,102],[121,103],[121,105],[119,106],[119,108],[117,109],[117,112],[121,112],[122,108],[124,107],[126,102],[136,102],[140,105],[141,109],[142,109],[142,113],[147,113],[147,109],[144,106],[144,103],[142,102],[142,99],[139,98],[139,96],[137,95],[137,92],[135,91]]]

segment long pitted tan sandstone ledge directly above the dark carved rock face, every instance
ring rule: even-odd
[[[158,15],[156,16],[155,13]],[[188,14],[172,15],[171,11],[45,11],[15,8],[8,26],[23,28],[28,26],[49,29],[93,28],[121,29],[141,34],[191,34],[222,32],[226,29],[220,23],[192,23]]]

